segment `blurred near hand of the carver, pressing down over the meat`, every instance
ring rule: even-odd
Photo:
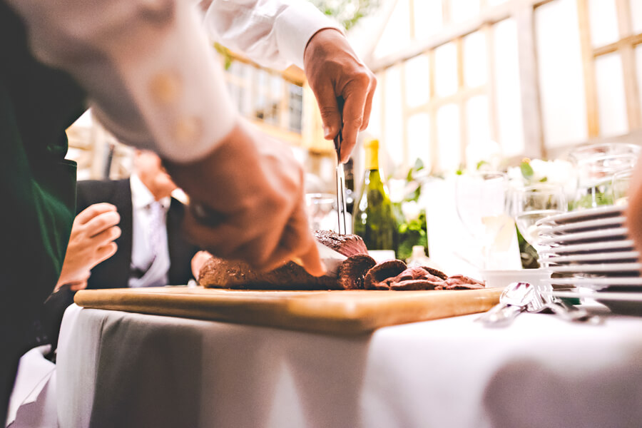
[[[190,196],[185,231],[201,248],[259,270],[300,258],[312,275],[325,272],[307,223],[303,170],[284,143],[240,122],[208,157],[166,167]]]

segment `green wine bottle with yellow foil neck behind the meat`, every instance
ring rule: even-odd
[[[367,141],[364,148],[365,177],[352,213],[352,230],[363,239],[368,250],[396,250],[397,222],[379,169],[379,141]]]

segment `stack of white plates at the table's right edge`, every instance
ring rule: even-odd
[[[590,297],[613,310],[642,310],[640,254],[624,223],[626,206],[606,206],[543,218],[536,223],[540,263],[557,297]]]

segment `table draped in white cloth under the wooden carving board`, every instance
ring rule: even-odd
[[[61,427],[639,427],[642,318],[338,337],[68,308]]]

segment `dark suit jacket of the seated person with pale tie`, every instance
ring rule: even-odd
[[[80,213],[89,205],[99,202],[108,202],[116,205],[121,215],[121,236],[116,240],[118,250],[116,254],[99,263],[91,270],[87,281],[87,288],[126,288],[128,287],[133,210],[131,204],[131,187],[129,179],[98,181],[86,180],[78,182],[78,198],[76,213]],[[170,270],[168,280],[170,285],[187,284],[192,277],[191,265],[193,255],[198,247],[183,238],[180,223],[183,220],[185,206],[172,198],[167,213],[167,237],[170,253]]]

